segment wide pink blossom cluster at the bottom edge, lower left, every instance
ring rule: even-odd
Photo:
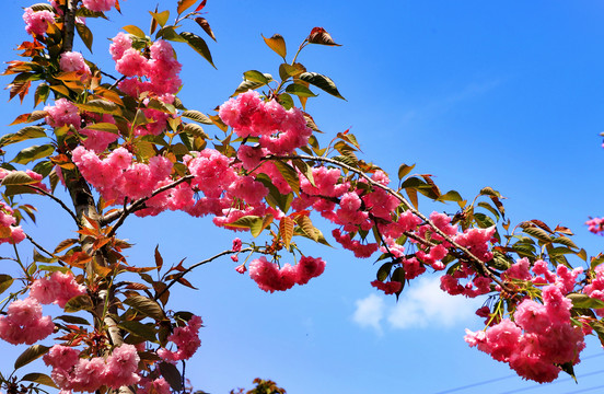
[[[140,381],[137,373],[140,358],[132,345],[124,344],[113,349],[106,358],[80,358],[72,347],[55,345],[44,356],[44,362],[53,367],[53,381],[62,391],[95,392],[102,386],[117,390]]]

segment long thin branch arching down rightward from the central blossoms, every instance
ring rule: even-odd
[[[441,229],[439,229],[434,223],[432,223],[432,221],[430,219],[428,219],[423,213],[421,213],[420,211],[415,209],[415,207],[409,201],[407,201],[407,199],[405,197],[403,197],[403,195],[400,195],[398,192],[395,192],[392,188],[390,188],[387,186],[384,186],[379,182],[373,181],[369,175],[367,175],[361,170],[355,169],[353,166],[350,166],[348,164],[345,164],[345,163],[342,163],[340,161],[337,161],[337,160],[334,160],[334,159],[312,157],[312,155],[306,155],[306,154],[269,155],[269,157],[265,158],[264,160],[295,160],[295,159],[312,160],[312,161],[320,161],[320,162],[324,162],[324,163],[335,164],[335,165],[337,165],[341,169],[346,169],[350,172],[353,172],[355,174],[357,174],[357,175],[361,176],[362,178],[364,178],[367,182],[369,182],[374,187],[379,187],[379,188],[383,189],[384,192],[386,192],[387,194],[394,196],[396,199],[398,199],[400,202],[403,202],[403,205],[405,206],[406,209],[410,210],[411,213],[414,213],[415,216],[417,216],[418,218],[423,220],[426,223],[428,223],[437,234],[439,234],[446,242],[451,243],[453,246],[455,246],[457,250],[460,250],[463,254],[465,254],[468,257],[468,259],[473,260],[475,264],[480,266],[480,268],[483,268],[483,271],[486,275],[488,275],[489,278],[491,278],[497,285],[499,285],[499,286],[501,286],[501,288],[508,290],[508,287],[495,274],[491,273],[491,270],[489,269],[489,267],[487,267],[485,262],[483,262],[481,259],[476,257],[472,252],[469,252],[469,250],[467,247],[464,247],[464,246],[460,245],[458,243],[456,243],[455,241],[453,241],[453,239],[451,239],[451,236],[446,235]]]

